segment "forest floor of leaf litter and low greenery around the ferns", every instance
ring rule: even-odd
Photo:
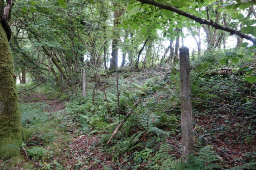
[[[170,108],[173,105],[171,102],[175,103],[175,101],[170,98],[170,93],[166,91],[166,89],[170,90],[171,88],[172,93],[176,93],[174,89],[176,80],[170,74],[171,71],[170,69],[163,71],[163,68],[158,68],[147,70],[147,72],[121,73],[119,80],[121,92],[139,94],[142,96],[142,107],[153,107],[152,110],[158,112],[160,112],[159,109],[162,109],[166,115],[172,116],[171,123],[179,124],[180,110],[179,108]],[[242,162],[250,162],[256,158],[256,131],[253,129],[256,121],[254,117],[250,116],[249,110],[242,108],[242,104],[237,109],[228,106],[244,101],[236,95],[242,89],[232,88],[234,83],[237,82],[223,81],[218,76],[205,78],[203,83],[197,84],[200,89],[195,92],[197,95],[195,98],[199,98],[201,95],[200,99],[206,100],[206,102],[193,100],[195,147],[211,145],[214,151],[218,153],[218,158],[225,163],[225,168],[242,165]],[[106,89],[109,90],[108,96],[114,94],[115,74],[104,77],[99,86],[98,95],[102,95]],[[203,94],[202,91],[207,92]],[[243,95],[247,95],[247,93]],[[114,101],[114,98],[110,98],[110,103],[112,100]],[[134,99],[136,98],[135,96]],[[216,104],[208,103],[207,100],[216,102]],[[34,91],[20,95],[19,102],[22,126],[31,131],[32,135],[24,141],[21,150],[24,158],[20,158],[20,163],[14,166],[12,160],[0,160],[0,169],[120,170],[134,169],[134,167],[150,169],[148,165],[152,164],[151,158],[155,155],[148,157],[150,162],[138,162],[134,153],[142,150],[134,147],[134,149],[128,149],[126,152],[116,152],[118,149],[115,145],[118,145],[118,139],[114,139],[114,142],[106,147],[102,139],[104,135],[106,137],[112,133],[116,123],[112,123],[112,127],[109,128],[107,124],[98,125],[97,122],[101,122],[101,119],[96,119],[92,123],[94,125],[88,127],[86,121],[78,116],[79,113],[87,113],[84,108],[88,107],[86,103],[81,102],[80,97],[77,97],[76,100],[60,99],[42,91]],[[82,107],[84,105],[86,107]],[[114,108],[113,113],[117,114],[115,105],[113,104],[111,107]],[[100,98],[97,108],[99,110],[101,108]],[[125,109],[125,107],[121,108]],[[255,106],[250,107],[250,109],[255,109]],[[91,106],[89,110],[92,110]],[[121,115],[124,114],[124,110],[121,110]],[[130,119],[140,119],[140,117],[136,117],[136,114],[133,116],[135,117]],[[164,120],[161,118],[160,121],[163,122]],[[102,122],[106,123],[106,120],[104,119]],[[170,121],[164,122],[170,123]],[[143,133],[138,143],[142,143],[141,145],[146,143],[145,146],[150,146],[150,149],[158,148],[162,143],[168,143],[174,148],[169,154],[174,155],[175,158],[180,158],[180,128],[178,126],[166,126],[163,123],[159,123],[158,128],[169,131],[168,137],[160,139],[159,136],[156,137],[152,133]],[[100,129],[95,124],[103,127]],[[106,130],[108,128],[110,130]],[[129,129],[129,127],[124,128]],[[129,130],[128,136],[143,130],[145,129],[142,125],[138,125]],[[146,148],[145,146],[144,148]],[[158,161],[157,163],[160,164],[161,162]]]

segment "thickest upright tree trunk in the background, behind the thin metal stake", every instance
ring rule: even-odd
[[[116,69],[118,67],[118,39],[120,38],[119,30],[118,30],[118,24],[120,23],[120,16],[122,15],[122,12],[120,11],[119,7],[116,7],[117,9],[114,11],[114,38],[112,39],[112,59],[110,62],[110,70]]]

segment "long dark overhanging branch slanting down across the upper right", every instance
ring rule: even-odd
[[[150,4],[150,5],[154,5],[158,8],[161,8],[161,9],[165,9],[165,10],[169,10],[169,11],[172,11],[172,12],[176,12],[177,14],[181,15],[181,16],[184,16],[184,17],[187,17],[187,18],[190,18],[191,20],[194,20],[200,24],[206,24],[206,25],[210,25],[216,29],[221,29],[223,31],[227,31],[227,32],[230,32],[230,35],[238,35],[240,36],[241,38],[245,38],[245,39],[248,39],[250,41],[252,41],[253,44],[256,44],[256,39],[249,36],[249,35],[246,35],[244,33],[241,33],[240,31],[238,30],[235,30],[235,29],[231,29],[230,27],[226,27],[226,26],[222,26],[212,20],[204,20],[202,18],[199,18],[198,16],[194,16],[188,12],[184,12],[182,10],[179,10],[178,8],[175,8],[174,6],[170,6],[170,5],[166,5],[166,4],[161,4],[159,2],[156,2],[154,0],[137,0],[139,2],[141,2],[142,4]]]

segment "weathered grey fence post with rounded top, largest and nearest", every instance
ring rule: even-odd
[[[193,116],[191,103],[191,81],[188,47],[180,48],[180,104],[181,104],[181,136],[182,162],[194,153]]]

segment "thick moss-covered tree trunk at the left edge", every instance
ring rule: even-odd
[[[0,0],[0,18],[4,0]],[[6,31],[0,23],[0,159],[19,154],[22,144],[22,126],[18,108],[18,94],[14,65]]]

